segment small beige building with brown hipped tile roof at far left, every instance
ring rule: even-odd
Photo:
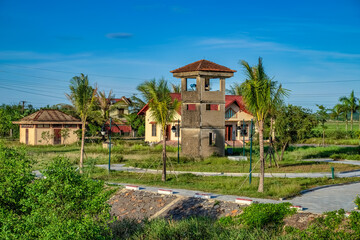
[[[78,141],[81,121],[59,110],[40,110],[20,121],[20,142],[27,145],[71,144]]]

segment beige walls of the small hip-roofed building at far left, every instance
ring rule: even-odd
[[[20,126],[20,143],[26,143],[26,129],[29,129],[29,145],[47,145],[47,144],[54,144],[54,138],[51,138],[49,140],[49,142],[45,141],[44,139],[41,138],[41,134],[43,132],[48,131],[51,135],[54,134],[54,128],[21,128]],[[56,128],[56,129],[61,129],[61,128]],[[76,141],[78,141],[78,137],[77,134],[75,133],[76,130],[79,129],[79,127],[77,128],[68,128],[69,131],[69,137],[66,139],[66,141],[64,142],[64,139],[61,138],[61,144],[72,144]]]

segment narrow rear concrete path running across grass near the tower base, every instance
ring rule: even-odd
[[[101,168],[108,168],[107,164],[96,165]],[[154,169],[143,169],[135,167],[126,167],[125,164],[112,164],[111,170],[115,171],[127,171],[127,172],[136,172],[136,173],[152,173],[160,174],[161,170]],[[248,173],[221,173],[221,172],[190,172],[190,171],[168,171],[169,173],[174,174],[184,174],[191,173],[198,176],[231,176],[231,177],[243,177],[248,176]],[[254,177],[258,177],[259,173],[253,173]],[[335,174],[336,177],[360,177],[360,170],[348,171],[348,172],[339,172]],[[321,178],[321,177],[331,177],[331,173],[265,173],[265,177],[282,177],[282,178]]]

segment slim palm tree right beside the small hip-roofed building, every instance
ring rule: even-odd
[[[75,76],[70,80],[70,94],[66,94],[81,119],[80,173],[82,173],[84,163],[86,120],[92,111],[95,93],[96,88],[89,85],[88,76],[81,73],[80,76]]]

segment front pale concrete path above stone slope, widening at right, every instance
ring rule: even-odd
[[[116,185],[134,185],[126,183],[109,183]],[[151,187],[151,186],[140,186],[140,191],[149,191],[157,193],[159,189],[168,189],[161,187]],[[168,189],[170,190],[170,189]],[[301,196],[295,197],[289,200],[271,200],[271,199],[261,199],[261,198],[249,198],[242,196],[233,196],[233,195],[222,195],[222,194],[212,194],[208,192],[186,190],[186,189],[171,189],[175,195],[185,196],[185,197],[194,197],[197,193],[210,194],[212,200],[221,200],[221,201],[230,201],[235,202],[236,198],[242,199],[251,199],[259,203],[281,203],[281,202],[290,202],[294,206],[302,206],[304,212],[312,213],[323,213],[327,211],[335,211],[343,208],[345,211],[350,212],[354,210],[355,204],[354,199],[357,194],[360,194],[360,183],[352,183],[341,186],[328,186],[325,188],[315,189],[313,191],[308,191]]]

